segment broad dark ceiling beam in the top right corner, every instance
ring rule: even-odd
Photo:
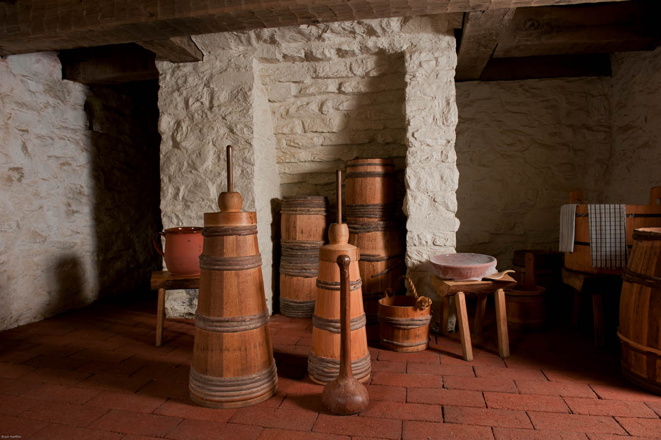
[[[597,54],[658,45],[661,2],[517,9],[493,57]]]

